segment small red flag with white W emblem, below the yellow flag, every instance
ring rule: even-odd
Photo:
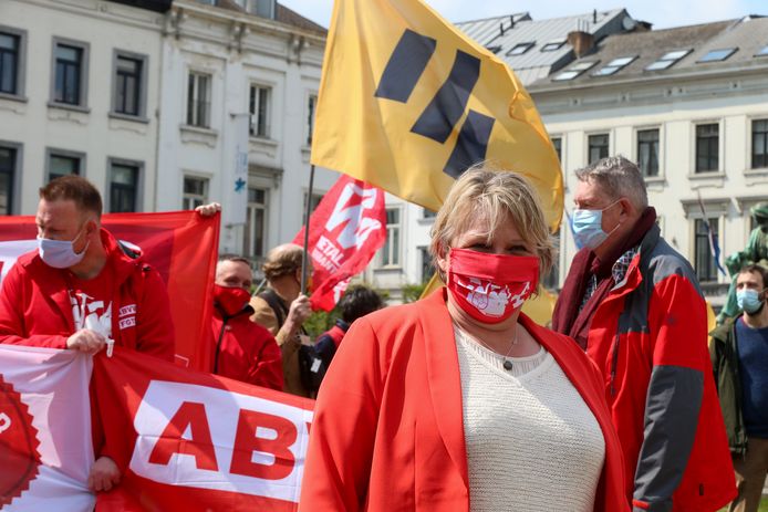
[[[386,239],[384,191],[342,175],[310,217],[312,309],[331,311]],[[304,229],[293,239],[304,244]]]

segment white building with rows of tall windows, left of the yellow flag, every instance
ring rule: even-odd
[[[324,43],[274,0],[0,1],[0,211],[33,213],[39,187],[79,174],[105,211],[221,201],[221,250],[259,260],[302,224]],[[315,202],[336,177],[318,169]]]

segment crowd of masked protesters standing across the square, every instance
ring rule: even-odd
[[[661,236],[637,166],[609,157],[577,179],[582,249],[551,328],[521,312],[557,257],[540,202],[489,164],[464,173],[435,218],[445,286],[384,311],[351,286],[314,341],[301,247],[269,251],[256,294],[250,261],[219,258],[211,373],[316,397],[300,510],[757,511],[768,270],[735,272],[738,314],[708,343],[695,272]],[[2,283],[0,343],[173,361],[163,279],[101,215],[81,177],[40,189],[39,248]],[[121,468],[108,445],[94,449],[89,485],[108,491]]]

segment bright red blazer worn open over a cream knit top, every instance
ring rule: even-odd
[[[320,388],[300,511],[469,510],[461,383],[446,290],[356,321]],[[595,511],[629,511],[623,461],[594,365],[525,315],[605,439]]]

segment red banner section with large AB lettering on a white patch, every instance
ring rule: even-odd
[[[128,349],[94,358],[120,485],[102,511],[295,511],[313,401]]]

